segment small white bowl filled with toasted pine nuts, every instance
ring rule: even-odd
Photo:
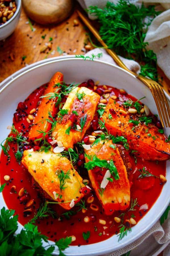
[[[2,16],[0,17],[0,19],[2,18],[2,23],[0,24],[0,40],[4,40],[10,36],[14,32],[19,22],[21,13],[21,0],[15,0],[14,2],[16,3],[16,7],[13,8],[10,6],[11,3],[13,4],[13,1],[10,3],[8,2],[10,8],[9,11],[7,11],[5,14],[2,12]],[[3,2],[2,4],[4,5]]]

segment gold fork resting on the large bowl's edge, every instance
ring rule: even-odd
[[[82,19],[82,21],[89,28],[89,30],[98,39],[98,41],[101,43],[101,45],[105,47],[105,50],[114,59],[114,61],[117,63],[117,65],[119,65],[119,67],[121,67],[121,68],[127,70],[128,72],[130,72],[131,74],[133,74],[136,78],[138,78],[140,81],[142,81],[150,89],[150,91],[154,97],[156,106],[157,106],[157,110],[159,113],[159,117],[160,117],[162,126],[164,127],[164,123],[165,123],[165,127],[170,127],[170,109],[169,109],[167,98],[166,98],[165,93],[164,93],[163,89],[161,88],[161,86],[156,81],[154,81],[152,79],[148,79],[141,75],[138,75],[138,74],[134,73],[133,71],[129,70],[125,66],[125,64],[121,61],[121,59],[119,59],[118,55],[111,49],[108,49],[107,45],[105,44],[105,42],[103,42],[102,38],[100,37],[98,31],[90,24],[88,18],[86,18],[86,16],[84,16],[79,10],[77,10],[77,13],[78,13],[79,17]]]

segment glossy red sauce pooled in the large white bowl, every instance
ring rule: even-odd
[[[103,90],[102,86],[98,86],[101,90]],[[129,94],[123,95],[120,93],[120,91],[116,88],[108,88],[111,90],[111,95],[116,95],[117,97],[122,97],[123,100],[128,100],[131,98],[132,100],[136,100],[134,97],[130,96]],[[90,88],[93,89],[93,88]],[[39,97],[43,94],[44,86],[39,87],[36,89],[28,98],[25,100],[25,103],[27,105],[27,109],[23,111],[17,111],[19,113],[21,120],[14,122],[15,128],[22,132],[24,136],[28,136],[28,132],[30,130],[30,124],[26,121],[27,115],[30,112],[31,109],[37,108],[38,101],[40,100]],[[103,93],[102,93],[103,94]],[[103,98],[101,96],[101,98]],[[119,101],[119,99],[117,99]],[[122,102],[120,102],[122,103]],[[90,128],[92,129],[92,128]],[[87,132],[87,134],[89,134]],[[8,158],[4,155],[4,153],[1,153],[1,163],[0,163],[0,181],[1,184],[5,182],[4,175],[9,175],[10,180],[7,182],[7,185],[5,186],[3,190],[3,197],[4,201],[7,204],[7,207],[9,209],[15,209],[16,214],[18,214],[18,221],[24,225],[26,224],[30,219],[34,217],[34,213],[38,210],[40,206],[41,199],[38,196],[37,190],[32,186],[32,176],[29,174],[29,172],[26,170],[26,168],[22,164],[18,164],[16,162],[16,158],[14,156],[14,152],[16,152],[17,145],[14,143],[10,144],[10,151],[9,154],[11,155],[11,158]],[[148,162],[143,161],[142,159],[137,159],[137,164],[134,163],[134,158],[131,156],[132,162],[133,162],[133,170],[134,168],[142,169],[143,167],[146,167],[147,170],[154,174],[155,176],[159,177],[159,174],[166,175],[166,163],[165,162]],[[160,182],[160,179],[157,177],[144,177],[143,179],[137,179],[140,175],[140,172],[137,170],[134,173],[133,179],[132,179],[132,187],[131,187],[131,198],[135,199],[137,198],[138,205],[134,207],[135,211],[126,211],[126,218],[131,217],[131,214],[134,214],[136,222],[138,222],[145,214],[148,212],[148,210],[152,207],[152,205],[155,203],[157,198],[159,197],[159,194],[162,190],[162,183]],[[84,178],[88,179],[88,173],[86,172],[84,174]],[[16,193],[11,193],[11,187],[15,185],[16,186]],[[34,204],[30,207],[32,209],[32,214],[30,216],[24,216],[23,210],[26,209],[26,205],[20,201],[20,198],[18,197],[18,192],[20,189],[24,187],[26,191],[30,195],[30,199],[34,200]],[[53,219],[52,217],[47,217],[41,220],[36,221],[36,225],[38,226],[39,231],[42,232],[42,234],[45,234],[47,237],[49,237],[49,240],[55,241],[59,238],[66,237],[66,236],[72,236],[74,235],[76,237],[76,241],[72,242],[72,245],[84,245],[84,244],[90,244],[90,243],[96,243],[102,240],[105,240],[114,234],[119,233],[119,224],[117,224],[114,221],[114,217],[118,217],[122,212],[116,211],[111,216],[106,216],[103,213],[102,207],[99,203],[99,200],[97,199],[94,190],[92,189],[90,194],[85,196],[86,199],[93,195],[94,201],[93,203],[99,207],[98,211],[94,211],[90,209],[90,204],[86,203],[88,210],[86,213],[82,213],[82,211],[79,211],[76,215],[71,216],[69,220],[67,220],[65,217],[63,217],[63,220],[58,220],[58,218]],[[148,210],[141,210],[139,211],[139,208],[143,204],[148,204]],[[61,215],[63,212],[65,212],[59,205],[50,205],[51,208],[53,208],[57,214]],[[75,209],[74,209],[75,208]],[[77,210],[78,207],[74,207],[72,210]],[[130,207],[129,207],[130,208]],[[85,223],[84,217],[88,216],[90,217],[90,222]],[[99,224],[99,219],[103,219],[106,221],[106,224],[104,225],[107,227],[105,230],[103,228],[102,224]],[[85,241],[82,236],[82,232],[90,231],[90,238]],[[104,234],[103,234],[104,231]],[[132,229],[133,231],[133,229]]]

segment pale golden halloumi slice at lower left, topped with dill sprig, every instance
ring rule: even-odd
[[[82,177],[72,168],[66,157],[49,151],[25,150],[22,164],[42,189],[66,210],[70,210],[84,196]],[[73,200],[74,199],[74,200]],[[64,202],[67,203],[64,203]]]

